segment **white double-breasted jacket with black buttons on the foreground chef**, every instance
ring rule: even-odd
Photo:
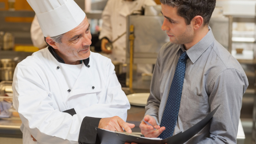
[[[60,59],[45,48],[15,69],[13,105],[22,120],[23,144],[77,144],[84,136],[95,140],[99,118],[117,115],[126,121],[130,105],[109,58],[91,52],[74,75],[74,65]],[[87,123],[91,117],[96,120]]]

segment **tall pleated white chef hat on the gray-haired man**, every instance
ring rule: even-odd
[[[45,37],[64,34],[77,27],[85,18],[74,0],[27,0],[35,11]]]

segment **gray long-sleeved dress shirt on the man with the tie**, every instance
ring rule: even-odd
[[[187,144],[236,144],[242,96],[248,79],[239,62],[219,44],[208,27],[207,35],[187,50],[185,78],[174,134],[191,128],[218,105],[209,124]],[[170,42],[158,53],[145,115],[161,123],[174,72],[184,45]]]

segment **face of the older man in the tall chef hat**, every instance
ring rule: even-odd
[[[84,60],[90,56],[91,33],[89,27],[87,18],[84,18],[82,23],[63,35],[61,43],[57,43],[57,54],[60,54],[65,63]]]

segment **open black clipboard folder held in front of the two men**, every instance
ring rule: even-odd
[[[208,122],[210,122],[211,118],[218,110],[219,106],[216,107],[213,111],[211,111],[203,120],[192,126],[191,128],[187,129],[185,132],[177,133],[167,139],[163,140],[151,140],[145,139],[143,137],[138,137],[138,135],[128,135],[125,133],[116,133],[110,132],[105,129],[97,129],[97,133],[101,144],[124,144],[125,142],[128,143],[138,143],[138,144],[183,144],[193,136],[195,136],[200,130],[202,130]]]

